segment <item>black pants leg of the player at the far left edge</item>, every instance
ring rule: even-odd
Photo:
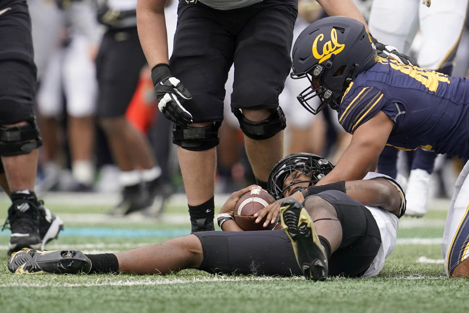
[[[10,9],[9,9],[10,8]],[[0,1],[0,125],[34,118],[31,20],[25,0]]]

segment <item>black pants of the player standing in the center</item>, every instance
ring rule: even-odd
[[[170,68],[192,93],[184,107],[194,122],[223,120],[225,82],[233,62],[232,107],[278,107],[291,68],[297,11],[297,0],[264,0],[226,11],[179,0]]]

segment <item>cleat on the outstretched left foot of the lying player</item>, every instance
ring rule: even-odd
[[[39,251],[23,248],[8,259],[8,269],[15,274],[88,273],[91,261],[78,250]]]

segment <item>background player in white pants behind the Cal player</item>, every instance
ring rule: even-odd
[[[430,7],[420,0],[373,0],[368,25],[371,33],[387,45],[409,54],[420,27],[417,49],[420,67],[451,75],[453,61],[464,27],[468,0],[433,1]],[[405,10],[399,8],[405,7]],[[396,178],[398,150],[386,147],[378,162],[378,172]],[[408,216],[423,216],[428,210],[430,176],[437,155],[417,149],[411,158],[407,182]],[[402,180],[402,179],[400,179]]]

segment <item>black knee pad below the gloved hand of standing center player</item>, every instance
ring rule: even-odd
[[[220,143],[218,129],[221,122],[213,122],[205,127],[189,127],[174,124],[172,129],[172,143],[186,150],[209,150]]]

